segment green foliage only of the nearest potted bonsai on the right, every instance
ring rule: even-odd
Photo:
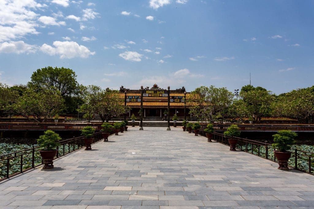
[[[298,134],[290,130],[281,130],[273,135],[274,143],[273,148],[279,150],[280,152],[286,152],[291,148],[291,145],[295,144],[294,138]]]

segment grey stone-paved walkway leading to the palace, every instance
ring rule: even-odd
[[[2,181],[0,208],[314,208],[313,175],[165,129],[129,127]]]

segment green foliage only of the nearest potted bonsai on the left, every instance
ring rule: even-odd
[[[44,135],[41,135],[39,139],[37,139],[37,143],[43,150],[52,150],[57,149],[60,140],[61,137],[59,134],[55,133],[54,131],[47,130],[44,132]]]

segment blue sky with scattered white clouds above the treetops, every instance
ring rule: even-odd
[[[83,85],[313,86],[314,1],[0,0],[0,83],[46,66]]]

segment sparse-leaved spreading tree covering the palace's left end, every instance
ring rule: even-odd
[[[124,106],[124,95],[120,97],[119,91],[101,89],[99,86],[86,86],[82,89],[84,104],[81,112],[98,114],[102,122],[127,113],[128,106]]]

